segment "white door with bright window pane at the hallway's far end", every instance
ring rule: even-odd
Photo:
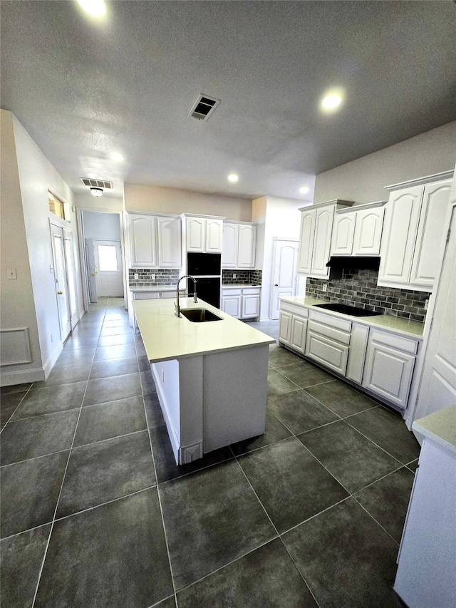
[[[95,273],[97,296],[122,297],[122,249],[120,241],[93,239],[93,257],[98,274]]]

